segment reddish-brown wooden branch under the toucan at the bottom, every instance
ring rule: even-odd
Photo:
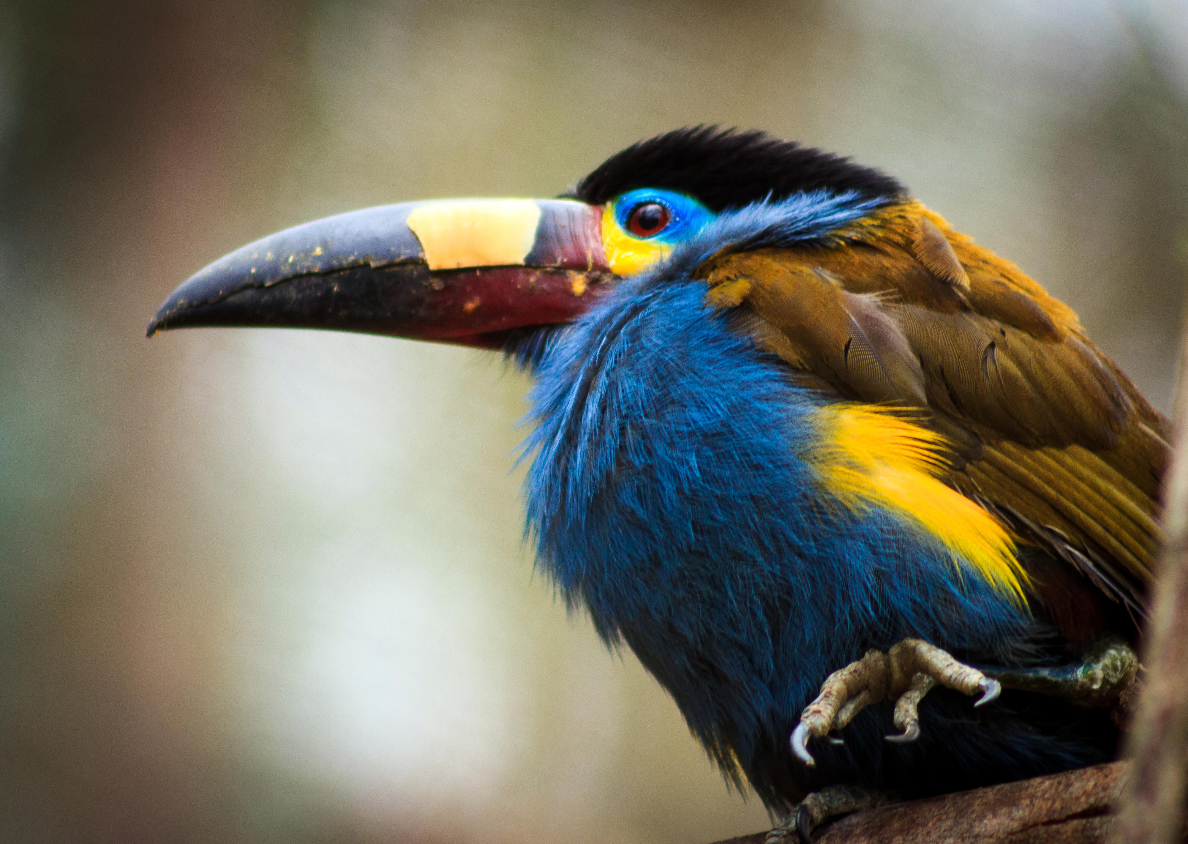
[[[814,844],[1104,844],[1130,773],[1112,762],[1022,782],[855,812],[823,826]],[[763,844],[766,832],[719,844]]]

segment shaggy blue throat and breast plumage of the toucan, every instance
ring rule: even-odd
[[[691,279],[740,238],[822,238],[871,208],[821,199],[723,214],[518,349],[537,379],[523,459],[538,565],[608,644],[631,645],[723,773],[776,808],[757,766],[830,672],[909,636],[1005,649],[1031,623],[902,512],[830,500],[809,455],[833,405]]]

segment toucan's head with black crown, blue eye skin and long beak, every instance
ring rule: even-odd
[[[878,170],[762,132],[678,130],[612,156],[561,199],[406,202],[268,235],[182,284],[148,335],[323,328],[511,348],[624,277],[822,240],[904,197]]]

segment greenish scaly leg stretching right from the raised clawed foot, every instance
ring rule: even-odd
[[[1116,638],[1102,640],[1081,662],[1044,668],[990,669],[1004,688],[1063,698],[1085,708],[1111,708],[1116,720],[1130,714],[1142,687],[1138,655]]]

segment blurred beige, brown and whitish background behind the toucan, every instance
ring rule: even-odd
[[[481,353],[144,327],[242,243],[767,128],[904,179],[1159,407],[1184,0],[0,2],[0,842],[763,829],[522,548]]]

